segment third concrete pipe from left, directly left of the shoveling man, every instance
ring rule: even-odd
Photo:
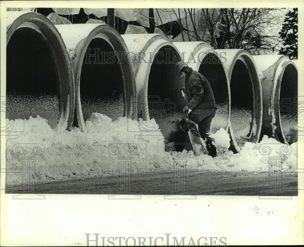
[[[183,85],[179,84],[176,72],[180,61],[178,49],[164,35],[127,34],[122,37],[134,56],[138,117],[154,118],[165,137],[164,142],[171,142],[185,104],[179,90]],[[144,122],[140,125],[146,131],[157,128]]]

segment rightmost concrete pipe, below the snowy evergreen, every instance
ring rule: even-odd
[[[263,135],[291,144],[298,140],[298,70],[284,55],[253,56],[263,92]]]

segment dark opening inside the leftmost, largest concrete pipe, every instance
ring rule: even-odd
[[[10,38],[6,54],[6,101],[22,102],[24,118],[39,115],[51,128],[56,127],[59,82],[43,37],[31,28],[19,28]]]

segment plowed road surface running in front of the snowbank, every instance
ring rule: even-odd
[[[186,191],[190,195],[269,195],[268,179],[268,172],[256,174],[254,172],[188,170]],[[115,195],[118,191],[117,184],[117,176],[111,175],[36,184],[36,193]],[[274,192],[271,195],[298,195],[296,172],[283,172],[282,183],[279,184],[282,184],[281,192]],[[174,188],[179,188],[179,185],[182,184],[173,182],[172,173],[137,172],[132,174],[130,188],[132,194],[135,195],[171,195]],[[20,186],[6,186],[5,192],[20,193],[20,189]],[[178,191],[174,194],[185,194],[182,189]]]

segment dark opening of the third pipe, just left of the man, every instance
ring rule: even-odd
[[[170,58],[173,60],[169,61]],[[176,100],[182,96],[175,68],[178,59],[178,53],[174,48],[162,47],[155,55],[148,78],[149,117],[155,119],[165,137],[172,130],[168,141],[173,141],[176,125],[184,116],[184,105],[180,100]]]

